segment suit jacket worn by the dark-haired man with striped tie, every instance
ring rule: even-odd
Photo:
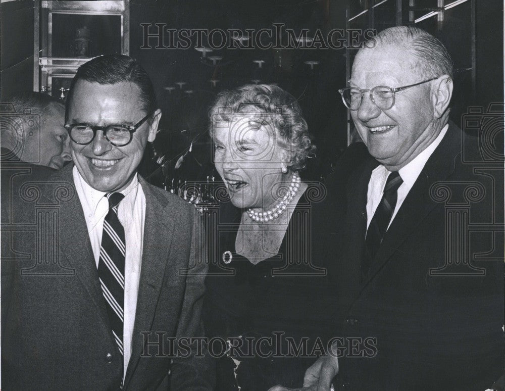
[[[194,357],[195,346],[174,355],[169,345],[156,344],[203,335],[207,264],[197,262],[194,209],[139,181],[146,199],[143,252],[124,389],[211,389],[212,365]],[[2,388],[118,389],[121,359],[72,165],[21,193],[26,213],[2,232]]]

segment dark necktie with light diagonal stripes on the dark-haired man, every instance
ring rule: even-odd
[[[109,213],[105,216],[98,277],[107,303],[107,313],[112,333],[123,363],[123,319],[125,290],[125,231],[118,219],[118,204],[124,198],[121,193],[106,194]]]

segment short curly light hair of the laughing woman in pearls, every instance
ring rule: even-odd
[[[291,152],[288,167],[298,170],[305,167],[309,154],[316,150],[302,117],[298,102],[290,93],[272,84],[247,84],[233,90],[222,91],[210,109],[212,136],[216,119],[230,122],[237,114],[252,109],[268,114],[276,137]],[[289,120],[286,121],[285,119]]]

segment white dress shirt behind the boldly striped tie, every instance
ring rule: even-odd
[[[92,188],[81,177],[74,166],[72,171],[74,184],[81,202],[86,225],[88,229],[91,248],[98,268],[100,244],[105,216],[109,212],[109,201],[105,192]],[[125,253],[125,298],[124,298],[124,321],[123,321],[123,358],[124,372],[131,356],[131,342],[135,310],[137,307],[138,284],[140,279],[140,267],[142,260],[142,244],[144,237],[145,221],[145,195],[142,186],[138,182],[137,174],[126,189],[121,191],[125,196],[118,207],[118,218],[125,230],[126,253]]]

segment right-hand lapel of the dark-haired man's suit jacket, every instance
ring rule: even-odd
[[[151,330],[159,294],[165,277],[170,243],[174,231],[174,215],[167,198],[159,197],[150,185],[139,176],[139,182],[145,195],[145,221],[142,246],[142,264],[138,287],[137,308],[133,326],[132,352],[125,377],[125,388],[131,379],[144,348],[141,331]],[[169,285],[171,281],[167,282]],[[174,313],[177,313],[174,309]]]

